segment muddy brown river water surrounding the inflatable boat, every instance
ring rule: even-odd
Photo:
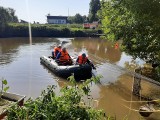
[[[145,103],[132,95],[133,76],[123,70],[127,65],[143,64],[143,61],[132,60],[131,56],[115,49],[114,44],[99,38],[1,38],[0,39],[0,77],[7,79],[9,92],[36,98],[48,85],[56,85],[56,92],[68,81],[57,77],[40,64],[40,56],[51,55],[53,47],[63,42],[71,56],[77,57],[85,52],[96,66],[96,74],[102,75],[100,84],[91,85],[94,107],[104,109],[107,115],[117,120],[139,120],[142,117],[137,111]],[[132,64],[134,63],[134,64]],[[159,87],[143,82],[143,90],[152,95],[158,93]],[[157,95],[159,96],[159,94]],[[160,120],[156,112],[145,120]]]

